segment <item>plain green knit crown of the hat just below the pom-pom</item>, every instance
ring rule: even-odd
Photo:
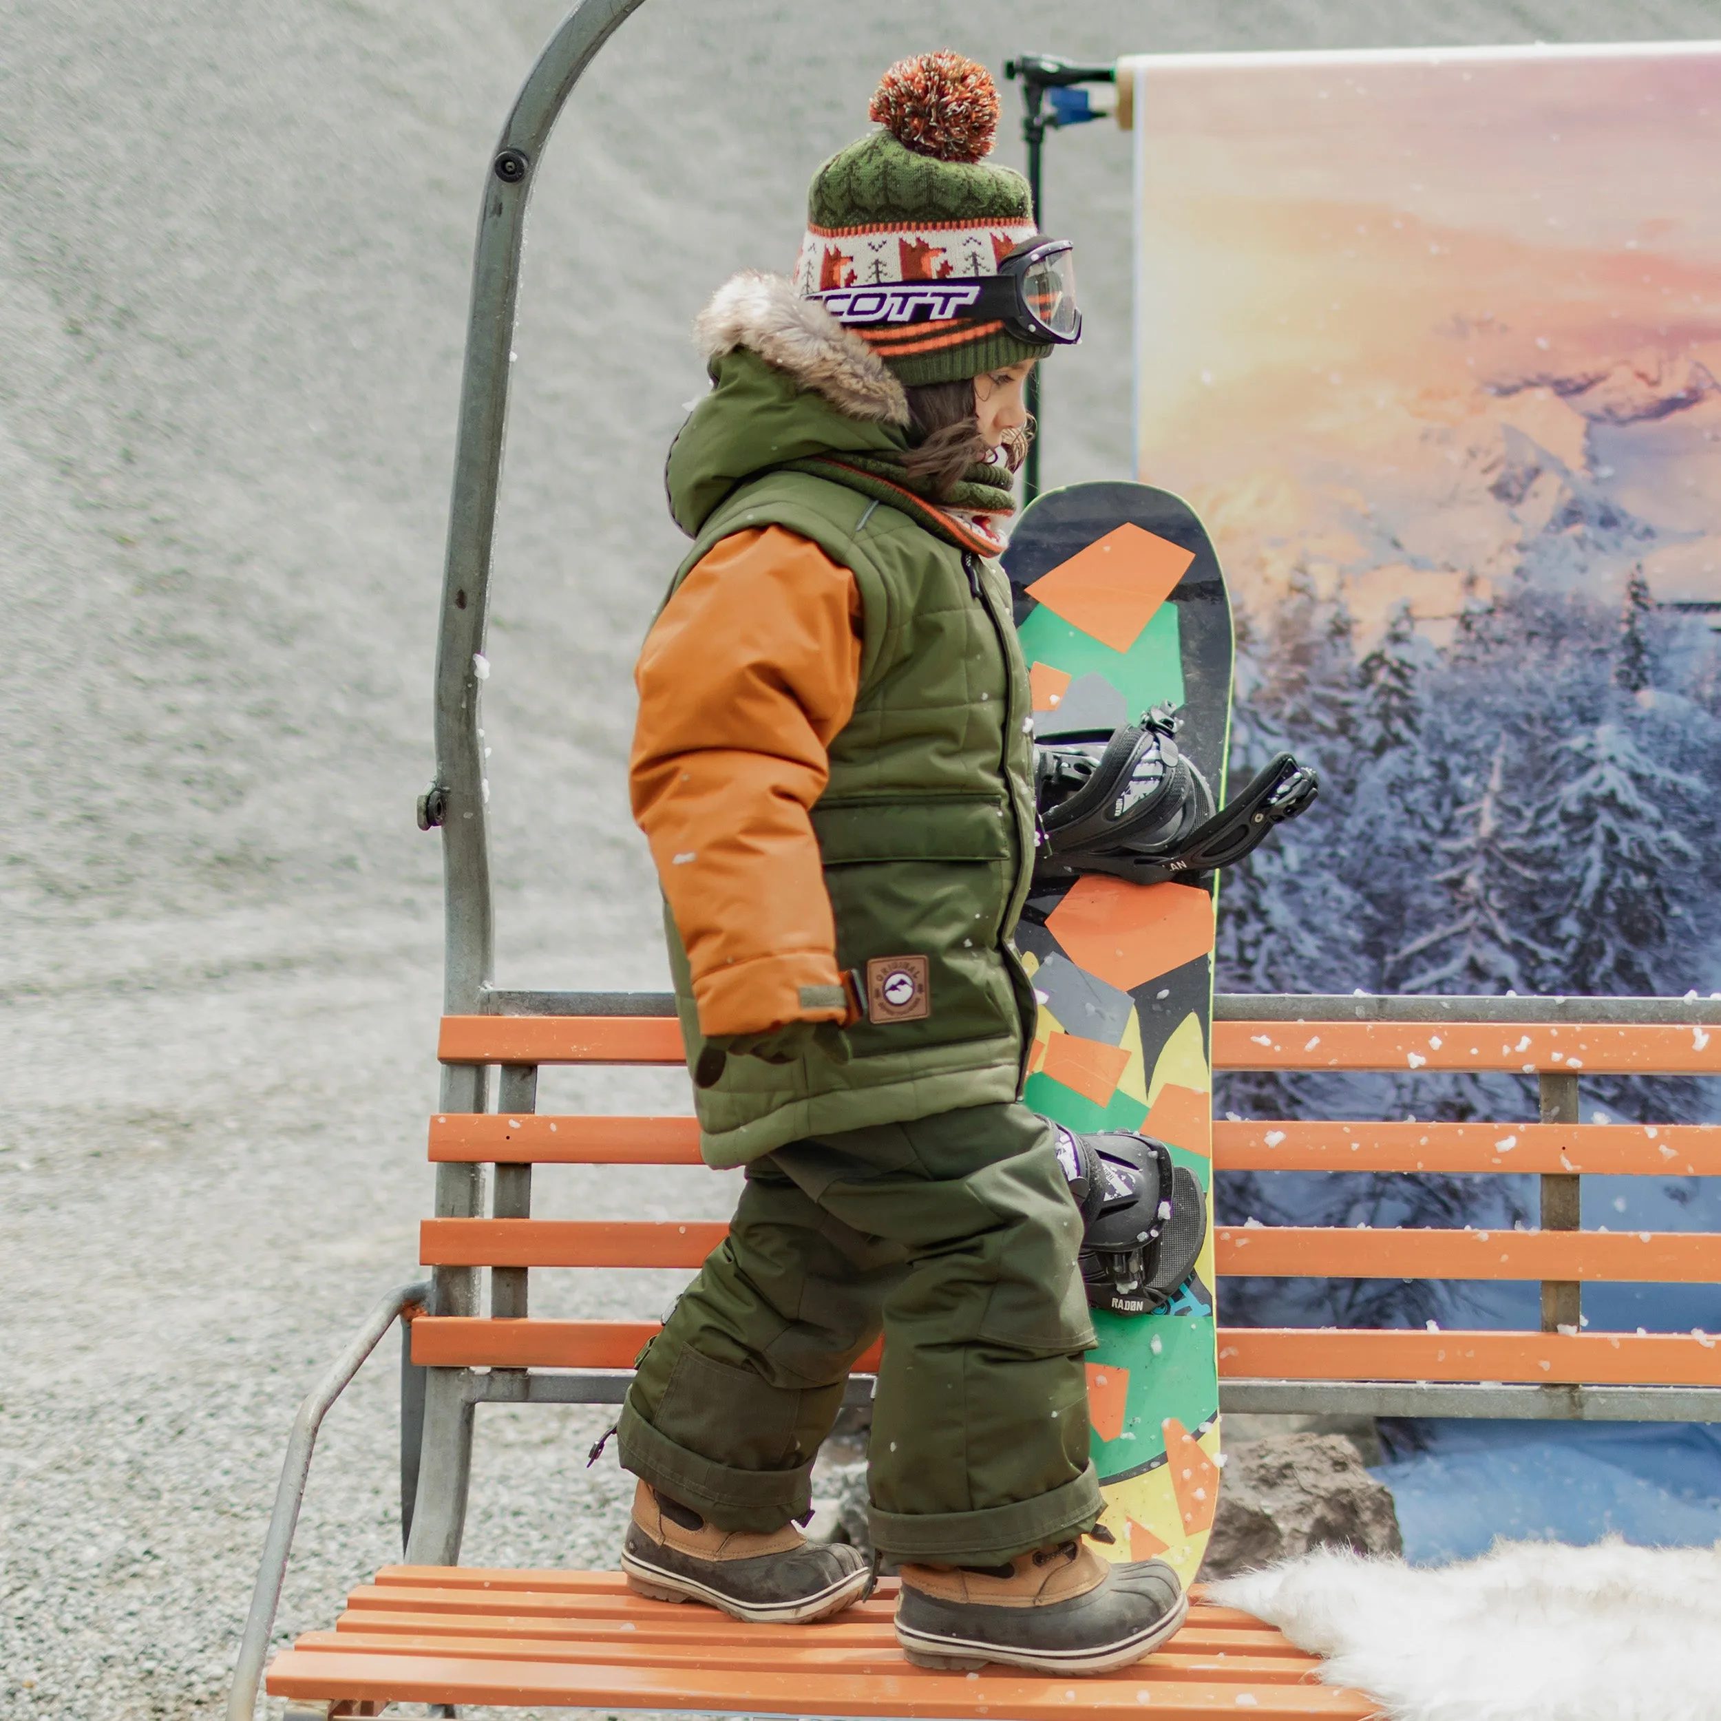
[[[922,227],[935,222],[1031,222],[1027,181],[1010,167],[941,162],[874,131],[838,150],[807,189],[812,227]]]

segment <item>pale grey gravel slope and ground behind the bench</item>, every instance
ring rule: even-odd
[[[5,1718],[219,1707],[293,1406],[413,1270],[439,885],[411,807],[466,272],[556,15],[0,19]],[[788,265],[811,169],[893,57],[1714,28],[1702,0],[651,0],[534,203],[487,687],[503,978],[661,981],[621,754],[678,554],[659,468],[699,387],[685,327],[728,270]],[[1127,466],[1129,165],[1107,126],[1048,153],[1091,330],[1046,391],[1058,482]],[[651,1076],[546,1089],[683,1105]],[[702,1174],[544,1186],[547,1213],[730,1201]],[[671,1282],[566,1279],[544,1311],[656,1311]],[[284,1633],[398,1549],[392,1397],[379,1360],[330,1418]],[[582,1468],[599,1422],[485,1411],[470,1559],[608,1558],[625,1489]]]

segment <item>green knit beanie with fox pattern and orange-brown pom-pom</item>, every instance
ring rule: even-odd
[[[883,129],[838,150],[812,176],[795,265],[802,298],[995,275],[1034,237],[1027,181],[981,160],[998,129],[998,89],[984,65],[948,50],[898,60],[867,117]],[[905,387],[959,382],[1052,351],[996,320],[962,315],[854,332]]]

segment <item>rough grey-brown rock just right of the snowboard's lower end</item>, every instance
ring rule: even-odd
[[[1311,1547],[1404,1549],[1392,1496],[1363,1468],[1354,1442],[1287,1434],[1231,1447],[1201,1575],[1224,1578]]]

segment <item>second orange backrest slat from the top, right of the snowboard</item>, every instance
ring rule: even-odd
[[[1721,1124],[1213,1124],[1225,1172],[1588,1172],[1721,1177]]]

